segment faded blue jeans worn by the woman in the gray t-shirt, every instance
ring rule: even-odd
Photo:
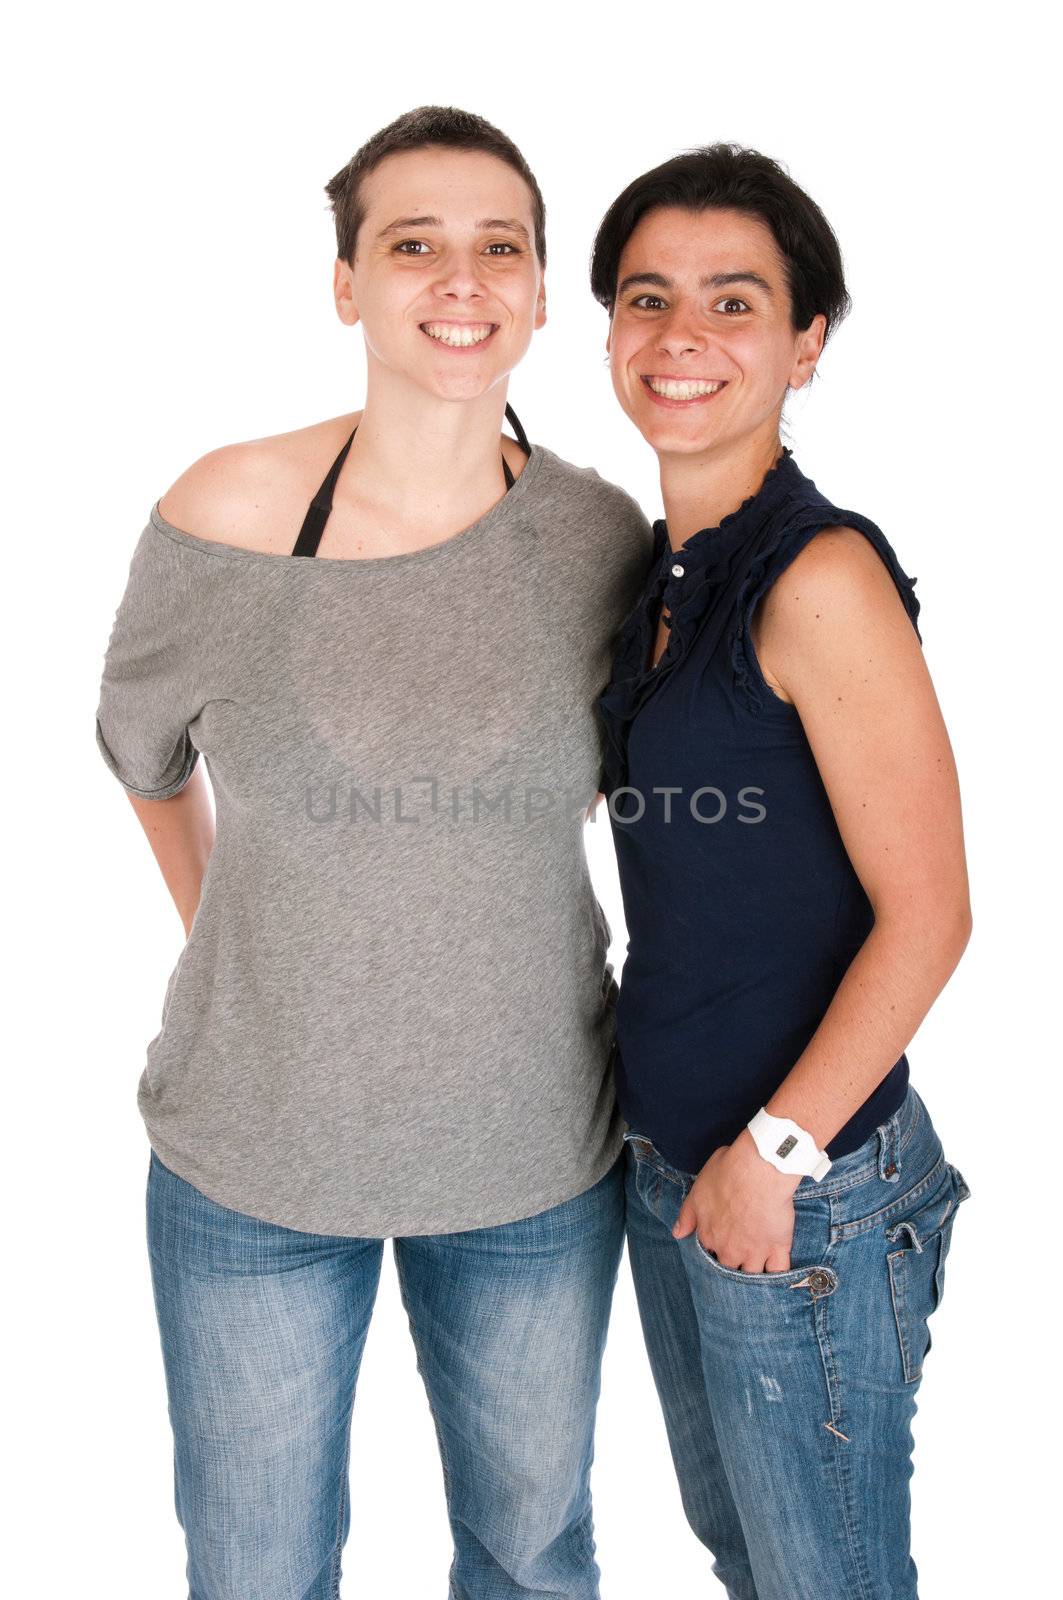
[[[538,1216],[395,1238],[455,1538],[451,1600],[597,1600],[589,1470],[624,1157]],[[152,1150],[147,1242],[189,1600],[335,1600],[383,1238],[208,1200]]]

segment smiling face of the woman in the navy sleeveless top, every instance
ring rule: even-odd
[[[620,258],[607,350],[621,406],[658,454],[778,438],[786,389],[808,381],[826,318],[791,325],[786,264],[743,211],[648,211]]]

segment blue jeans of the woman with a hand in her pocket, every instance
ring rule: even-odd
[[[911,1419],[970,1190],[909,1086],[794,1190],[788,1272],[671,1229],[693,1184],[628,1133],[628,1253],[684,1510],[730,1600],[914,1600]]]

